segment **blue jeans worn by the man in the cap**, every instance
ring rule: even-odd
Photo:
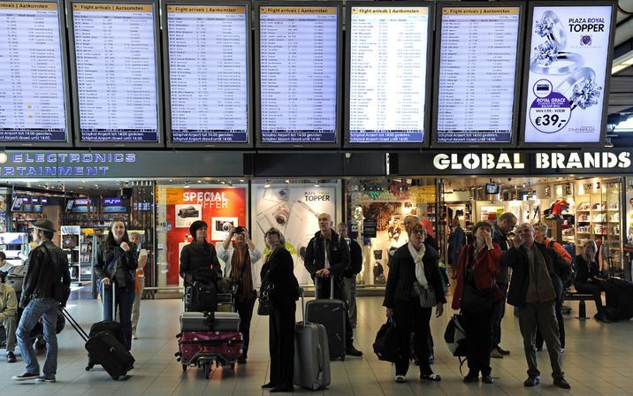
[[[27,308],[19,319],[18,339],[19,350],[27,364],[27,373],[40,374],[40,364],[33,348],[31,331],[42,317],[44,323],[44,340],[46,341],[46,361],[44,362],[44,377],[55,377],[57,373],[57,312],[59,302],[53,299],[33,299],[28,302]]]

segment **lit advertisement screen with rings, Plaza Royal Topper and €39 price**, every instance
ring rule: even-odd
[[[611,5],[534,8],[526,143],[600,141],[612,10]]]

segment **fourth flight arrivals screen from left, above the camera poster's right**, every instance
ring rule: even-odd
[[[263,143],[337,141],[338,42],[338,7],[259,8]]]

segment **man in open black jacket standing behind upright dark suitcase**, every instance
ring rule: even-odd
[[[330,285],[334,286],[334,299],[346,301],[343,286],[343,275],[349,266],[349,247],[339,234],[332,230],[332,216],[322,213],[318,217],[319,232],[309,241],[306,249],[304,265],[315,281],[315,296],[329,299]],[[349,323],[347,310],[346,320],[346,354],[362,356],[362,352],[354,347],[354,331]]]

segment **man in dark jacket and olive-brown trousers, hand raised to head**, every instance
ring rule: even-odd
[[[516,229],[514,247],[503,254],[503,263],[513,269],[507,302],[518,308],[528,379],[523,385],[536,386],[541,377],[537,367],[535,339],[537,328],[543,334],[552,364],[554,385],[569,389],[562,369],[561,340],[554,305],[571,268],[553,249],[534,241],[534,228],[528,223]]]

